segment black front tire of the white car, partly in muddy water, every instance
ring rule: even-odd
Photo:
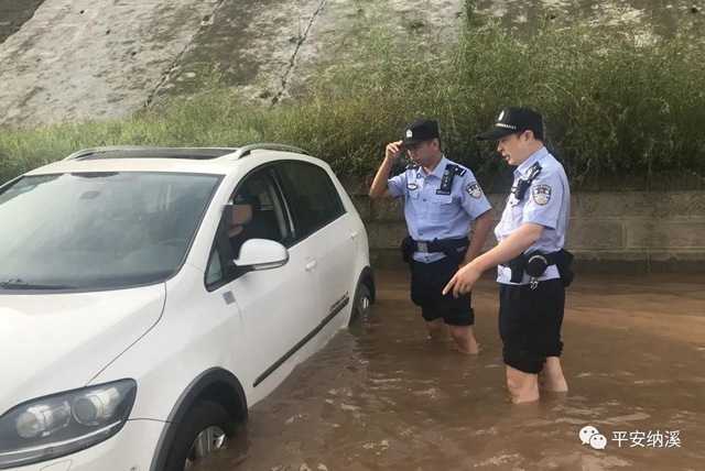
[[[193,468],[195,459],[221,448],[234,434],[235,424],[225,407],[213,401],[196,403],[176,430],[163,471]]]

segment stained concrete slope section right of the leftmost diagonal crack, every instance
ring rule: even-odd
[[[276,103],[305,84],[318,67],[335,63],[356,34],[352,24],[376,9],[388,9],[403,34],[410,24],[420,34],[453,40],[460,31],[464,0],[226,0],[214,24],[174,67],[156,95],[187,95],[217,65],[221,83],[263,105]]]

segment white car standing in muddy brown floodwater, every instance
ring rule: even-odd
[[[0,470],[188,469],[375,302],[352,201],[286,145],[79,151],[0,221]]]

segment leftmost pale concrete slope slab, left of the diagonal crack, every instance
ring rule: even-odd
[[[217,8],[217,0],[45,0],[0,45],[0,124],[128,116]]]

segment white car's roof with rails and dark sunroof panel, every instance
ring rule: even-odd
[[[284,144],[251,144],[242,147],[105,146],[77,151],[62,161],[26,172],[25,175],[69,172],[182,172],[226,175],[251,162],[276,158],[322,161],[299,147]]]

